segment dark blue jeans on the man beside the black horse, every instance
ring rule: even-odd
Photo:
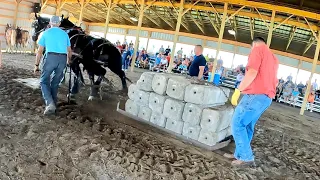
[[[67,55],[48,54],[43,59],[40,86],[46,106],[57,104],[58,88],[67,65]]]

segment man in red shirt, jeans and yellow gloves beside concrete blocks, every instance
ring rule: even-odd
[[[261,37],[253,39],[252,49],[246,67],[245,77],[232,96],[231,103],[237,105],[240,92],[244,95],[233,114],[231,128],[235,140],[234,154],[224,156],[233,166],[254,166],[254,156],[250,146],[254,126],[262,113],[271,105],[278,84],[279,61]]]

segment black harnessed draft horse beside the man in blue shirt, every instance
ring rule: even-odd
[[[37,32],[44,31],[48,27],[48,21],[39,16],[36,16],[36,18],[37,21],[34,23],[35,38],[33,39],[37,39],[39,35]],[[44,30],[40,30],[40,27]],[[117,74],[121,79],[123,89],[127,89],[126,80],[129,79],[126,78],[122,70],[121,54],[110,41],[86,35],[80,27],[75,26],[68,18],[62,17],[60,27],[68,33],[74,53],[72,56],[73,62],[70,65],[76,75],[71,89],[72,96],[78,93],[79,81],[83,82],[80,64],[83,65],[83,70],[88,72],[92,85],[90,87],[89,100],[99,93],[99,85],[106,74],[106,69],[102,66],[108,67],[112,72]],[[95,75],[98,76],[96,81],[94,79]]]

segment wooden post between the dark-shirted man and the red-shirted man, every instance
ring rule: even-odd
[[[220,33],[219,33],[219,39],[218,39],[218,47],[217,47],[217,52],[216,52],[217,54],[216,54],[216,58],[214,59],[212,72],[211,72],[211,77],[210,77],[210,82],[213,81],[213,77],[214,77],[214,74],[215,74],[216,68],[217,68],[218,55],[219,55],[219,51],[220,51],[220,48],[221,48],[224,28],[226,26],[227,12],[228,12],[228,3],[224,3],[223,15],[222,15],[222,19],[221,19],[221,27],[220,27]]]

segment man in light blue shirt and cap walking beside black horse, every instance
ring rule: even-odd
[[[34,73],[40,71],[40,59],[46,48],[40,75],[42,96],[46,103],[45,115],[54,114],[56,111],[59,84],[66,64],[70,63],[72,56],[69,36],[59,28],[59,16],[52,16],[50,25],[51,28],[43,32],[39,39],[34,69]]]

